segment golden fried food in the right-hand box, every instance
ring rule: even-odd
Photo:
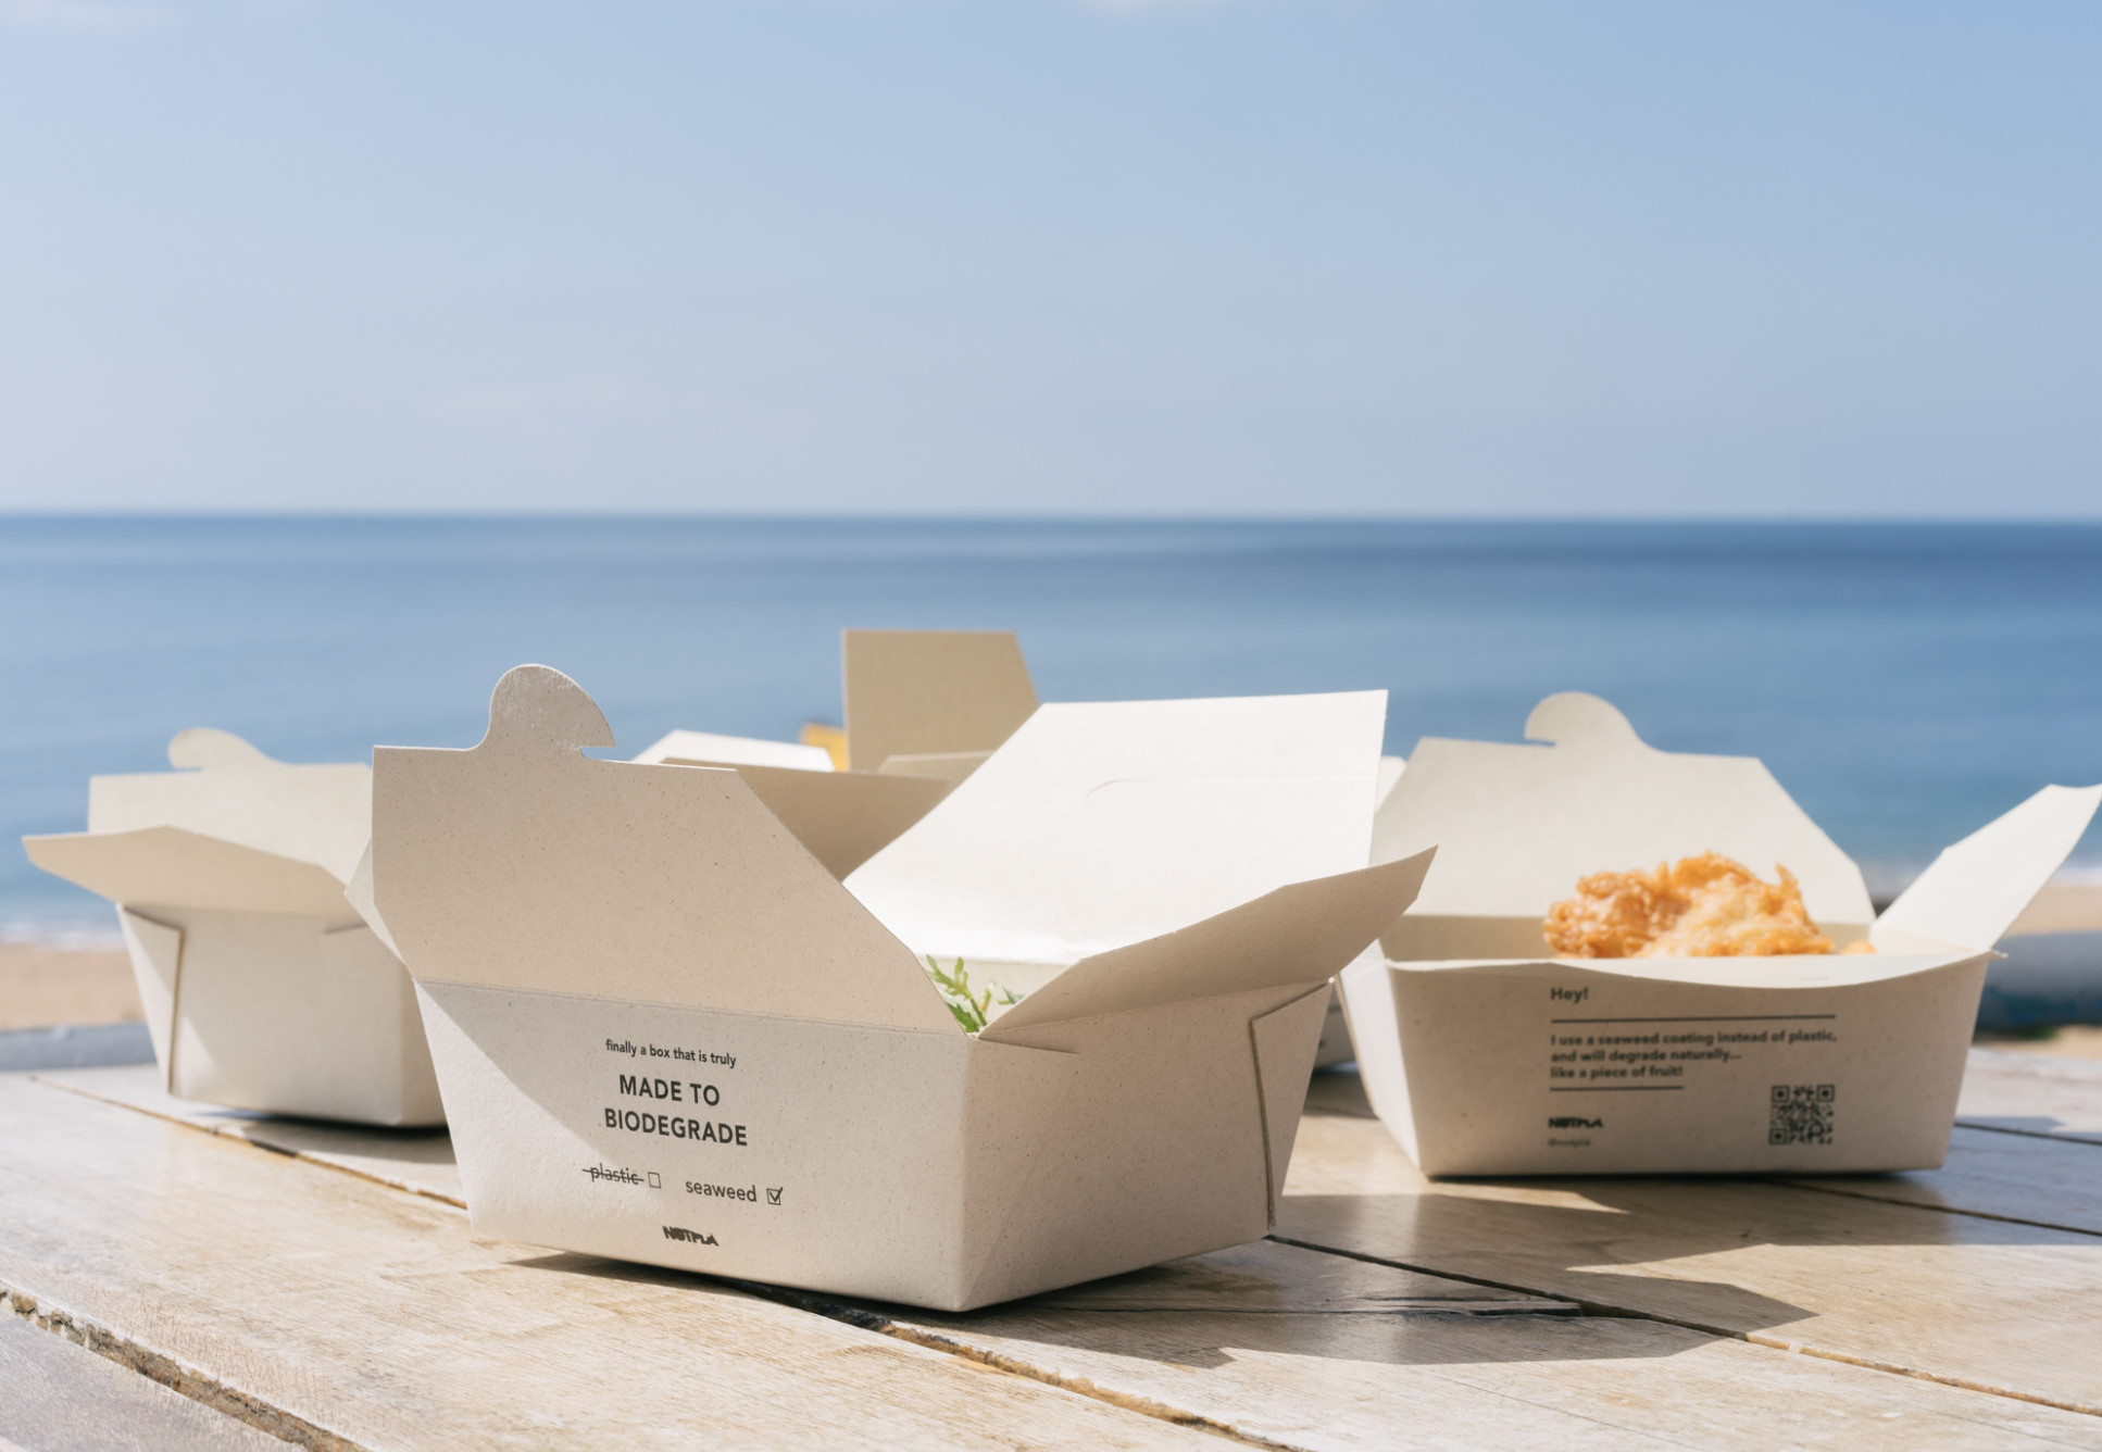
[[[1593,872],[1547,910],[1547,946],[1562,958],[1829,954],[1795,876],[1774,870],[1780,883],[1761,883],[1709,851],[1654,872]]]

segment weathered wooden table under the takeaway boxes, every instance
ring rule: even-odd
[[[0,1076],[0,1452],[2102,1450],[2102,1063],[1974,1051],[1959,1118],[1932,1175],[1427,1183],[1320,1076],[1270,1240],[935,1315],[475,1238],[441,1133]]]

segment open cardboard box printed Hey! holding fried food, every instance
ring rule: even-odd
[[[1438,843],[1385,962],[1341,975],[1364,1086],[1427,1175],[1934,1168],[1991,948],[2102,788],[2052,786],[1946,849],[1881,918],[1860,870],[1749,756],[1646,746],[1551,696],[1541,746],[1425,740],[1375,859]],[[1547,956],[1589,872],[1719,851],[1797,874],[1835,946],[1776,958]]]

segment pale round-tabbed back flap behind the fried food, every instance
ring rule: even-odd
[[[1719,851],[1780,864],[1820,925],[1867,929],[1860,868],[1753,756],[1663,752],[1619,710],[1568,691],[1534,706],[1543,746],[1425,738],[1373,828],[1373,859],[1438,847],[1415,912],[1543,918],[1591,872]]]

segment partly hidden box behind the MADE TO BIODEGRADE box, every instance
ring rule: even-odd
[[[845,630],[847,771],[822,746],[673,731],[643,765],[734,767],[832,876],[925,817],[1036,710],[1007,630]]]

